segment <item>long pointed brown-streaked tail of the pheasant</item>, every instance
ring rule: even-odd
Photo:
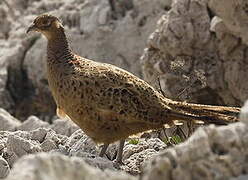
[[[173,118],[184,121],[224,125],[239,121],[240,108],[171,101],[167,105]]]

